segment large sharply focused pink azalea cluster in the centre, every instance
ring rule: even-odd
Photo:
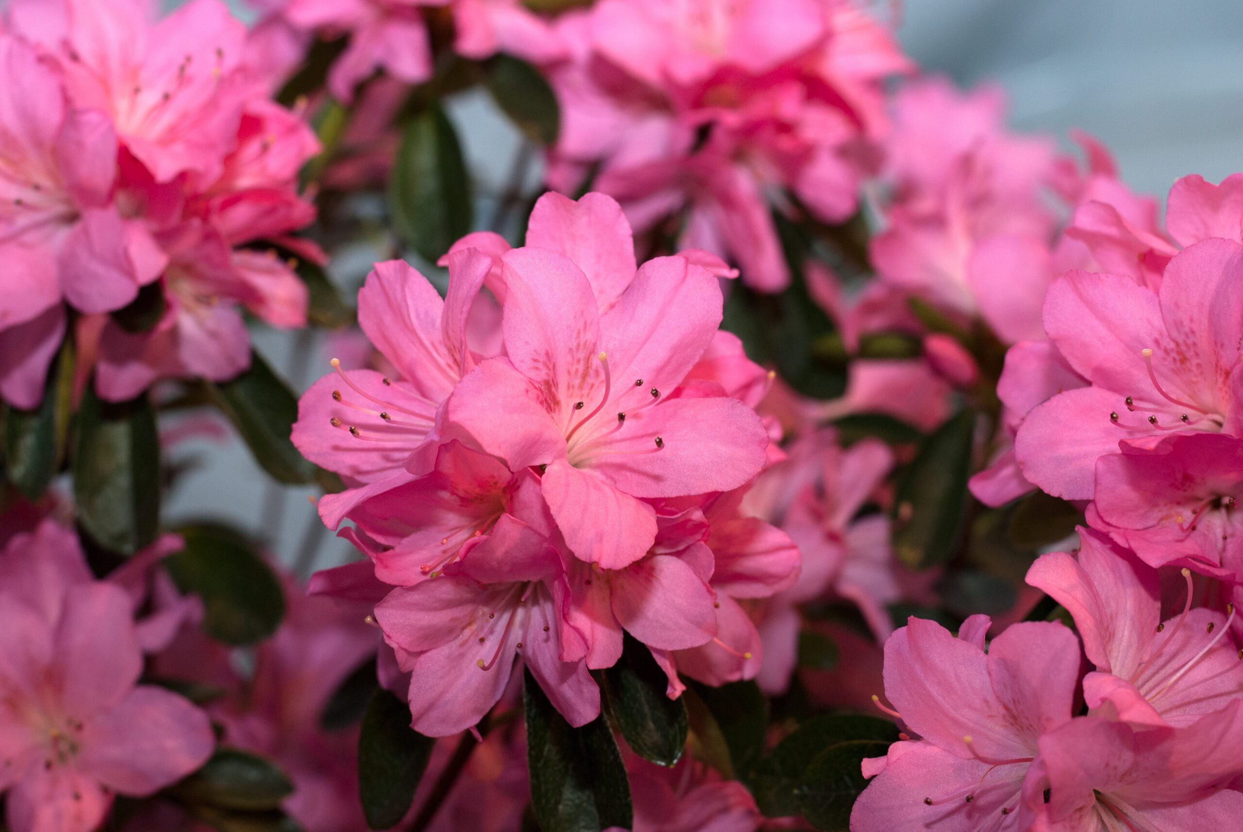
[[[598,194],[541,197],[526,242],[461,240],[444,301],[405,263],[377,266],[359,323],[397,374],[334,360],[293,428],[351,486],[321,517],[352,520],[369,558],[314,586],[374,594],[387,683],[433,736],[475,725],[520,656],[571,724],[590,721],[588,671],[620,658],[624,632],[674,695],[679,673],[753,678],[738,600],[798,571],[789,538],[740,513],[768,461],[752,410],[768,374],[717,329],[725,263],[636,267],[620,206]]]

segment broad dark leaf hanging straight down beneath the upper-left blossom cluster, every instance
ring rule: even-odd
[[[87,387],[73,450],[78,523],[96,543],[132,555],[159,533],[159,433],[145,395],[119,404]]]

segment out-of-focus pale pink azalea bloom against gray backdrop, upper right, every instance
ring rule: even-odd
[[[1042,202],[1055,159],[1047,139],[1007,134],[1003,109],[998,91],[960,96],[943,79],[899,93],[888,142],[895,204],[871,257],[888,283],[1016,341],[1042,335],[1055,274],[1054,217]]]

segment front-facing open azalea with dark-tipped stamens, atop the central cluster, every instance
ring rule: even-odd
[[[533,245],[505,253],[506,358],[476,366],[440,416],[443,441],[513,471],[542,466],[566,545],[605,569],[655,541],[655,510],[643,499],[737,488],[768,443],[741,401],[676,392],[721,322],[716,278],[684,257],[636,273],[633,261],[595,260],[615,230],[603,227],[600,241],[548,235],[585,269]]]

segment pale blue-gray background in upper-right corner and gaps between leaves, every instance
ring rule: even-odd
[[[1064,137],[1078,127],[1098,135],[1139,190],[1163,196],[1190,173],[1218,181],[1243,170],[1238,0],[911,0],[902,17],[899,37],[927,72],[963,86],[999,82],[1017,129]],[[452,114],[486,200],[505,179],[515,137],[486,99],[456,102]],[[351,279],[358,267],[343,265],[341,277]],[[255,340],[287,374],[297,369],[291,337],[260,332]],[[307,378],[295,381],[318,378],[327,359],[317,350]],[[178,456],[186,454],[203,466],[172,495],[170,522],[225,517],[261,531],[286,563],[311,551],[310,489],[267,487],[236,441],[191,442]],[[341,541],[316,549],[319,566],[347,556]]]

